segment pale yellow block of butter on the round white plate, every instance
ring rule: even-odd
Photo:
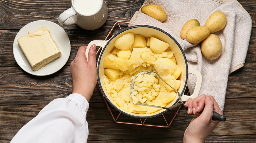
[[[18,44],[33,71],[39,70],[61,56],[61,52],[47,27],[41,27],[19,38]]]

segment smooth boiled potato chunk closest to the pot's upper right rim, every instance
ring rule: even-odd
[[[157,38],[150,37],[149,46],[154,52],[161,54],[168,49],[170,45]]]

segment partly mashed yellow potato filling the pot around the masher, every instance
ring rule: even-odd
[[[137,36],[136,36],[137,37]],[[141,36],[140,36],[141,37]],[[136,40],[138,41],[138,40]],[[156,71],[172,87],[179,89],[181,68],[176,64],[173,52],[168,48],[161,54],[150,47],[120,50],[116,47],[104,58],[104,85],[108,97],[128,112],[154,113],[160,108],[135,105],[144,103],[165,107],[176,97],[176,92],[155,73],[139,75],[135,79],[135,91],[130,94],[132,78],[140,71]]]

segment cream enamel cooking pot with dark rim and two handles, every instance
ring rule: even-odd
[[[151,113],[151,114],[136,114],[136,113],[131,113],[128,112],[124,109],[122,109],[120,106],[118,106],[113,100],[112,98],[107,94],[106,88],[104,86],[104,80],[103,80],[103,75],[104,75],[104,68],[103,68],[103,62],[104,62],[104,58],[105,56],[110,53],[114,46],[114,42],[121,37],[124,34],[127,34],[129,32],[133,32],[134,34],[141,34],[144,37],[155,37],[159,40],[162,40],[164,42],[167,42],[170,47],[171,50],[174,52],[174,56],[177,62],[177,65],[181,67],[181,75],[179,77],[179,80],[181,80],[181,86],[178,89],[178,91],[181,94],[181,98],[182,101],[186,101],[188,98],[195,98],[198,96],[199,94],[199,90],[202,84],[202,75],[199,71],[195,70],[194,68],[190,67],[187,64],[187,60],[185,57],[185,54],[180,46],[180,44],[167,32],[157,28],[157,27],[153,27],[153,26],[149,26],[149,25],[136,25],[136,26],[131,26],[131,27],[127,27],[122,29],[121,31],[117,32],[114,36],[112,36],[109,40],[94,40],[91,41],[88,44],[88,47],[86,49],[86,56],[88,57],[88,52],[89,52],[89,48],[91,47],[91,45],[95,44],[96,46],[100,46],[102,47],[102,50],[100,52],[99,58],[98,58],[98,63],[97,63],[97,81],[98,81],[98,85],[99,88],[102,92],[102,94],[104,95],[104,97],[106,98],[106,100],[113,106],[115,107],[118,111],[120,111],[121,113],[131,116],[131,117],[135,117],[135,118],[151,118],[151,117],[156,117],[158,115],[161,115],[163,113],[165,113],[166,109],[161,109],[155,113]],[[195,90],[193,92],[192,95],[187,96],[187,95],[183,95],[186,87],[187,87],[187,79],[188,79],[188,74],[191,73],[193,75],[195,75],[197,77],[197,81],[196,81],[196,86],[195,86]],[[179,101],[178,99],[178,95],[176,96],[176,99],[173,100],[171,103],[169,103],[166,107],[170,107],[174,104],[176,104]]]

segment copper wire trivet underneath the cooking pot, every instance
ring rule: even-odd
[[[108,31],[108,35],[106,36],[105,40],[107,40],[110,36],[113,35],[112,32],[113,32],[113,30],[115,29],[115,27],[118,26],[118,27],[120,28],[120,30],[122,30],[120,24],[129,24],[129,22],[117,21],[117,22],[113,25],[113,27],[111,28],[111,30]],[[96,55],[98,54],[98,52],[99,52],[101,49],[102,49],[102,47],[99,47],[99,49],[98,49],[97,52],[96,52]],[[97,84],[97,85],[98,85],[98,84]],[[100,90],[100,88],[99,88],[99,90]],[[172,113],[170,113],[169,111],[163,113],[163,114],[162,114],[163,122],[161,122],[161,123],[154,122],[154,119],[155,119],[155,118],[159,118],[160,115],[157,116],[157,117],[150,118],[151,121],[152,121],[152,119],[153,119],[153,124],[148,124],[148,123],[146,123],[146,120],[147,120],[148,118],[143,119],[143,118],[129,117],[129,116],[124,115],[124,114],[122,114],[121,112],[115,110],[114,107],[109,106],[109,103],[108,103],[107,100],[105,99],[105,97],[104,97],[104,95],[103,95],[103,93],[102,93],[101,90],[100,90],[100,92],[101,92],[101,95],[102,95],[102,97],[103,97],[104,102],[105,102],[106,105],[107,105],[107,110],[110,112],[112,118],[114,119],[114,121],[115,121],[116,123],[168,128],[168,127],[171,126],[171,124],[172,124],[172,122],[174,121],[174,119],[178,116],[178,112],[179,112],[180,109],[181,109],[181,106],[180,106],[180,107],[177,107],[177,110],[174,111],[174,112],[172,112]],[[189,94],[189,92],[187,91],[187,94],[186,94],[186,95],[188,95],[188,94]],[[111,108],[113,108],[114,110],[112,111]],[[117,113],[115,114],[114,112],[117,112]],[[118,112],[119,112],[119,113],[118,113]],[[115,114],[115,115],[114,115],[114,114]],[[165,114],[165,115],[164,115],[164,114]],[[170,115],[170,114],[173,114],[173,117],[167,118],[167,115],[166,115],[166,114],[169,114],[169,115]],[[121,118],[122,115],[124,115],[125,118]],[[127,119],[127,118],[130,118],[130,119],[132,118],[133,120],[136,120],[136,121],[134,121],[134,122],[130,122],[130,121],[119,121],[119,120],[124,120],[124,119]],[[158,119],[158,120],[159,120],[159,119]],[[164,124],[164,125],[163,125],[163,124]]]

